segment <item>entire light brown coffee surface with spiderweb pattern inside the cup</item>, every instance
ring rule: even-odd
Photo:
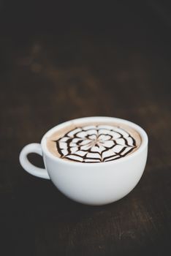
[[[71,124],[47,138],[54,156],[74,162],[110,162],[132,154],[140,147],[139,133],[125,124],[91,122]]]

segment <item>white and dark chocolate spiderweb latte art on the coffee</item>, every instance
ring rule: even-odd
[[[128,131],[105,124],[75,127],[53,142],[62,159],[85,163],[120,159],[137,148]]]

